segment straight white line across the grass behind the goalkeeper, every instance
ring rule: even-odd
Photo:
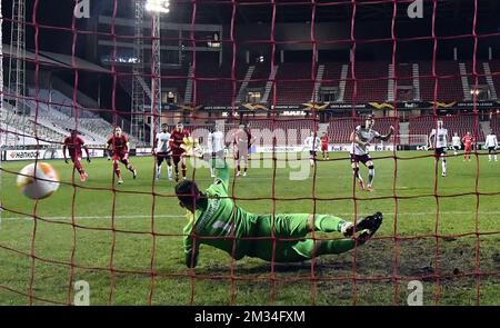
[[[318,212],[319,213],[319,212]],[[336,212],[336,213],[327,213],[332,216],[352,216],[353,212]],[[358,216],[363,216],[368,213],[359,212]],[[386,211],[386,215],[392,216],[392,211]],[[440,216],[464,216],[464,215],[476,215],[476,212],[468,212],[468,211],[440,211]],[[500,215],[500,211],[487,211],[487,212],[479,212],[479,215]],[[422,217],[422,216],[436,216],[436,212],[398,212],[399,217],[406,216],[406,217]],[[154,215],[154,218],[184,218],[183,215]],[[61,221],[70,221],[71,217],[41,217],[42,219],[48,220],[61,220]],[[94,220],[94,219],[111,219],[111,216],[89,216],[89,217],[74,217],[76,220]],[[114,219],[149,219],[151,216],[114,216]],[[0,220],[6,221],[18,221],[18,220],[27,220],[31,221],[33,220],[32,217],[9,217],[9,218],[0,218]]]

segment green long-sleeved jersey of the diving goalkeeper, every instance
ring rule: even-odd
[[[200,243],[227,251],[234,259],[243,258],[251,246],[253,228],[258,216],[236,206],[228,195],[229,169],[218,169],[216,181],[207,189],[208,206],[197,209],[184,227],[186,264],[193,267],[198,261]]]

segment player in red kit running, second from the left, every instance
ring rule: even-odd
[[[123,179],[121,178],[119,162],[124,165],[127,169],[132,173],[133,179],[137,178],[137,171],[129,160],[129,139],[123,133],[120,127],[116,127],[113,130],[113,135],[108,139],[108,160],[113,159],[113,171],[118,178],[118,185],[123,183]]]

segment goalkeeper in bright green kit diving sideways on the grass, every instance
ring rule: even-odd
[[[362,245],[370,239],[382,223],[380,212],[357,225],[329,215],[279,213],[273,218],[272,215],[249,213],[229,197],[228,182],[228,167],[218,161],[216,181],[206,193],[190,180],[176,186],[179,205],[188,210],[189,222],[183,235],[189,268],[198,264],[200,243],[224,250],[236,260],[249,256],[267,261],[296,262],[348,251],[357,241]],[[312,231],[338,231],[346,238],[314,241],[307,238]]]

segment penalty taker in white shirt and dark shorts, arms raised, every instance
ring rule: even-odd
[[[370,153],[368,152],[368,146],[373,139],[388,141],[392,133],[394,132],[394,127],[390,127],[389,133],[386,136],[380,135],[378,131],[373,130],[374,118],[373,116],[368,116],[364,121],[364,126],[356,127],[354,131],[351,133],[351,168],[354,173],[354,180],[359,180],[359,186],[361,190],[366,190],[364,180],[359,172],[359,162],[362,162],[368,167],[368,191],[373,191],[373,178],[374,178],[374,165],[371,160]]]

